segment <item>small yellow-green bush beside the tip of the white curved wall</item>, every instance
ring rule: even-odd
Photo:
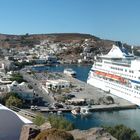
[[[40,126],[47,121],[46,117],[42,114],[37,114],[37,116],[33,119],[33,123]]]

